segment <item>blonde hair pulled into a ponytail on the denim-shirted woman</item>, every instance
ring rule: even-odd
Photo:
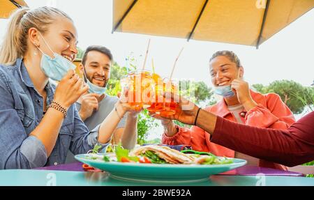
[[[27,52],[27,33],[32,27],[45,33],[48,25],[52,24],[57,16],[70,17],[57,8],[20,8],[11,16],[6,35],[0,48],[0,63],[13,65],[16,59],[22,58]],[[73,21],[73,20],[71,20]]]

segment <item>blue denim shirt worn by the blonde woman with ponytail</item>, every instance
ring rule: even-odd
[[[45,86],[47,105],[56,86]],[[75,105],[68,109],[59,135],[47,157],[45,146],[29,135],[43,118],[43,97],[36,91],[22,59],[13,66],[0,65],[0,169],[31,169],[63,164],[70,150],[74,155],[87,153],[98,144],[98,125],[89,132]],[[45,134],[45,133],[43,133]],[[100,144],[105,148],[107,144]]]

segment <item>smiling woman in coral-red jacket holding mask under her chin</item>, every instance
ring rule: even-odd
[[[205,108],[206,111],[230,121],[260,128],[287,129],[294,123],[292,112],[279,95],[275,93],[263,95],[249,89],[248,83],[243,80],[244,68],[233,52],[216,52],[210,59],[209,69],[214,91],[223,96],[223,100]],[[163,144],[187,144],[196,151],[208,151],[218,156],[245,159],[249,165],[287,169],[281,164],[259,160],[215,144],[211,141],[211,134],[197,126],[190,129],[181,128],[174,125],[172,121],[163,119],[162,124],[165,128]]]

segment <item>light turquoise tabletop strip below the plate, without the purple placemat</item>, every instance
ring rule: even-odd
[[[57,185],[57,186],[143,186],[143,185],[188,185],[188,186],[274,186],[311,185],[314,178],[301,176],[210,176],[200,183],[141,183],[111,178],[106,172],[57,171],[37,169],[9,169],[0,171],[0,185]]]

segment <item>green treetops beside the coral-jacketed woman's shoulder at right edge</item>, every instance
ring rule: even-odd
[[[314,89],[294,81],[281,80],[271,82],[269,86],[254,84],[253,87],[260,93],[277,93],[294,114],[299,114],[304,111],[304,107],[311,108],[314,104]]]

